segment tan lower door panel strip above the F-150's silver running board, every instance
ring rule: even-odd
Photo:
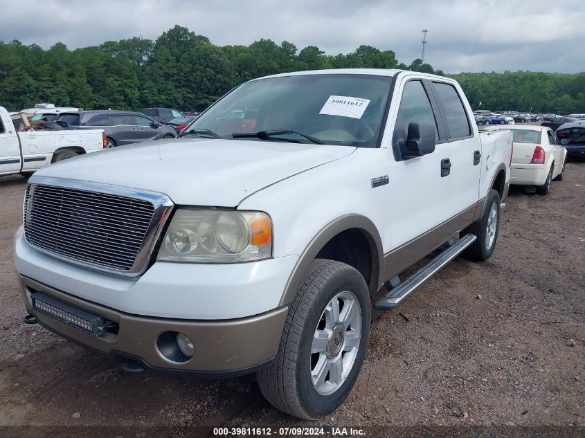
[[[384,255],[384,259],[386,259],[385,278],[392,278],[394,275],[413,266],[413,264],[444,244],[460,230],[474,222],[476,220],[476,210],[478,209],[478,204],[474,204],[432,230]]]

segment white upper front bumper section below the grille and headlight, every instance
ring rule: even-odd
[[[234,264],[154,263],[140,277],[120,277],[55,259],[30,246],[21,231],[14,246],[24,277],[75,297],[147,318],[227,320],[276,309],[298,256]]]

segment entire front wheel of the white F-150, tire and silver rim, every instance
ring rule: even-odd
[[[352,266],[316,259],[291,304],[275,361],[257,374],[264,397],[318,419],[348,396],[366,355],[370,295]]]

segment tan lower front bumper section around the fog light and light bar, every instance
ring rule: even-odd
[[[150,318],[122,313],[92,302],[80,300],[28,277],[20,277],[26,309],[49,329],[80,344],[106,354],[123,353],[140,358],[150,367],[173,371],[233,372],[269,361],[278,353],[288,307],[279,307],[261,315],[236,320],[177,320]],[[77,309],[118,323],[118,333],[90,334],[33,309],[31,295],[49,295]],[[159,351],[161,334],[177,331],[195,346],[195,355],[186,362],[168,360]]]

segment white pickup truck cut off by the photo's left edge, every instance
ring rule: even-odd
[[[25,115],[10,116],[0,107],[0,175],[32,174],[45,165],[105,147],[102,129],[19,131],[11,117],[26,120],[21,128],[28,125]]]

